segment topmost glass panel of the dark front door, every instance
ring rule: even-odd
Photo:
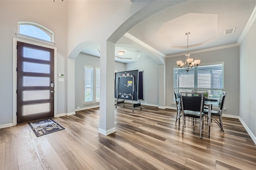
[[[50,52],[24,47],[23,57],[50,61]]]

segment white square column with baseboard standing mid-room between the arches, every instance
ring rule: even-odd
[[[100,125],[98,132],[109,135],[116,131],[114,122],[115,44],[100,44]]]

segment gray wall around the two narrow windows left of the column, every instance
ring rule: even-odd
[[[93,104],[84,104],[84,66],[93,67]],[[85,107],[99,106],[99,103],[95,103],[96,94],[96,67],[100,68],[100,57],[94,57],[84,53],[80,53],[75,60],[75,108],[80,107],[80,109]],[[115,70],[118,72],[126,71],[124,63],[115,62]],[[113,75],[114,76],[114,75]],[[113,94],[114,96],[114,94]]]

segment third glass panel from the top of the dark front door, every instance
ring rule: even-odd
[[[23,86],[50,86],[50,77],[23,77]]]

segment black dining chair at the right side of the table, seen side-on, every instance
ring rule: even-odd
[[[225,98],[226,98],[226,92],[222,92],[222,94],[220,95],[220,100],[219,100],[219,104],[218,104],[219,109],[211,110],[211,120],[213,120],[217,123],[217,125],[220,127],[222,133],[224,133],[223,123],[222,123],[222,111],[223,111]],[[208,116],[208,114],[207,114],[208,109],[204,109],[204,113],[206,113],[206,116]],[[217,118],[219,118],[219,120]]]

